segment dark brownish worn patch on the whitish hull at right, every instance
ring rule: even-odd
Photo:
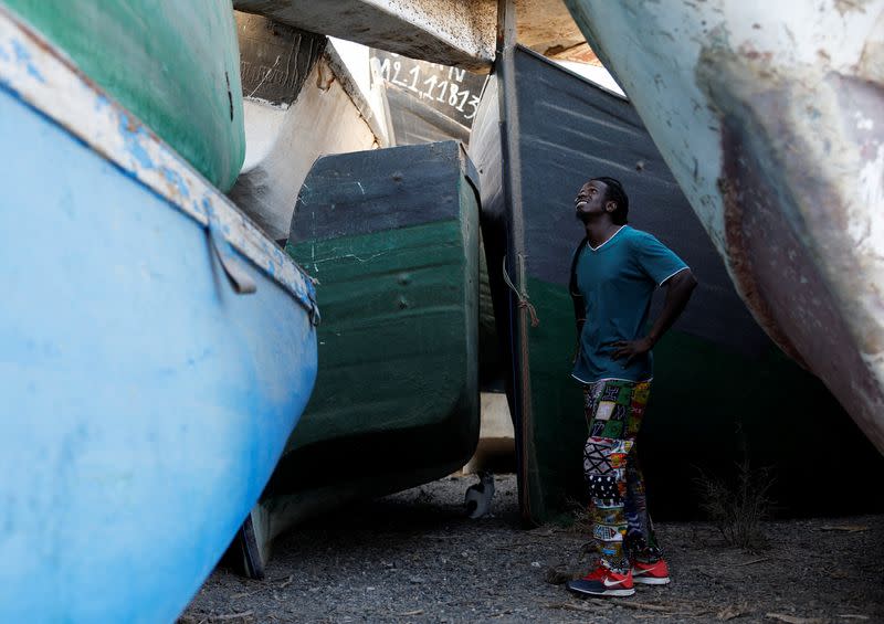
[[[829,180],[811,149],[808,141],[815,137],[806,135],[813,126],[796,125],[787,114],[815,92],[792,74],[761,77],[764,68],[764,60],[719,51],[702,56],[697,70],[722,119],[718,190],[732,275],[771,339],[820,377],[884,450],[877,415],[884,396],[863,359],[881,345],[857,319],[854,303],[840,298],[844,282],[862,274],[842,235],[850,197]],[[821,239],[822,232],[828,234]],[[840,289],[830,283],[835,279]]]

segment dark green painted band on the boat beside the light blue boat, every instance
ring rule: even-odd
[[[324,319],[290,451],[460,417],[476,394],[477,246],[465,253],[476,233],[452,219],[290,247],[320,281]]]

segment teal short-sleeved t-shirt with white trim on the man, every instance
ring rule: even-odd
[[[586,306],[575,379],[583,383],[651,379],[651,352],[624,367],[625,359],[613,359],[611,345],[645,335],[654,289],[687,265],[651,234],[623,225],[597,248],[588,242],[581,245],[575,267],[572,294],[581,296]]]

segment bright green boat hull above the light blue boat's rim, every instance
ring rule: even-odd
[[[233,186],[245,138],[230,0],[0,0],[0,6],[63,50],[212,184],[222,191]]]

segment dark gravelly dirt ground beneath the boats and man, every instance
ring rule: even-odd
[[[662,523],[673,582],[628,599],[571,596],[588,537],[519,528],[516,482],[495,478],[470,520],[475,477],[446,477],[303,526],[263,581],[219,568],[180,624],[264,622],[884,622],[884,516],[776,521],[770,547],[727,547],[708,523]]]

